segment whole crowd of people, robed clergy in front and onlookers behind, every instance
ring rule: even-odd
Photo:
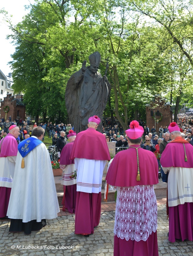
[[[10,232],[24,231],[26,234],[43,228],[46,219],[57,217],[59,206],[51,161],[42,143],[49,127],[53,144],[59,141],[60,167],[64,170],[61,181],[63,210],[67,208],[68,212],[75,213],[75,234],[88,237],[99,225],[101,183],[104,167],[111,159],[107,146],[110,142],[116,147],[127,148],[109,162],[106,176],[107,184],[117,188],[114,256],[158,255],[157,203],[153,185],[159,182],[159,177],[168,187],[169,241],[192,241],[191,117],[187,121],[181,116],[178,124],[160,126],[159,134],[155,127],[149,128],[134,120],[125,131],[125,137],[118,123],[114,127],[107,124],[106,133],[105,129],[103,134],[98,132],[98,116],[91,116],[88,129],[78,134],[70,124],[52,125],[49,122],[37,126],[34,123],[32,129],[26,122],[21,128],[11,123],[9,133],[0,140],[3,167],[0,171],[0,217],[11,219]],[[30,134],[27,140],[18,143],[21,129]],[[94,147],[90,146],[93,138]],[[42,166],[46,166],[45,171]]]

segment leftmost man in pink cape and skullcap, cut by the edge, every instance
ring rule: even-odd
[[[9,127],[9,133],[0,141],[0,218],[7,215],[18,147],[16,138],[18,136],[19,127],[12,125]]]

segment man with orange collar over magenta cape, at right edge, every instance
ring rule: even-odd
[[[177,123],[168,127],[172,141],[164,149],[160,162],[168,173],[168,240],[193,240],[193,147],[181,138]]]

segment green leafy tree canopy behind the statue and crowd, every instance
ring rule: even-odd
[[[145,105],[162,94],[175,105],[191,103],[193,23],[191,1],[37,0],[16,26],[8,20],[16,93],[32,116],[64,121],[65,87],[88,56],[99,51],[100,72],[112,85],[106,116],[124,130],[145,120]]]

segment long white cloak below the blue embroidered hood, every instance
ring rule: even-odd
[[[18,152],[7,215],[29,222],[57,218],[60,211],[50,156],[41,143],[24,157]]]

